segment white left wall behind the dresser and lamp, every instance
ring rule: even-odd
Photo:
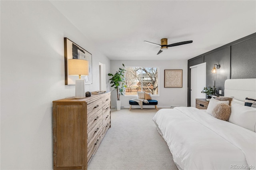
[[[92,53],[85,87],[98,90],[99,62],[108,73],[110,60],[49,1],[1,1],[1,169],[53,168],[52,101],[75,93],[64,85],[64,37]]]

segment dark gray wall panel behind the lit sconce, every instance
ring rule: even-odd
[[[205,55],[204,62],[206,62],[206,86],[212,87],[215,81],[217,94],[222,90],[222,94],[218,95],[223,96],[225,80],[230,79],[230,47]],[[214,64],[220,64],[217,73],[212,73]]]

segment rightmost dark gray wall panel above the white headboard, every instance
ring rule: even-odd
[[[256,77],[256,37],[231,46],[231,79]]]

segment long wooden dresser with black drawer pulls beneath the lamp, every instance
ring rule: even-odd
[[[110,117],[110,92],[53,101],[54,170],[86,170]]]

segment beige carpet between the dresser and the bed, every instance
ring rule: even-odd
[[[156,109],[111,111],[108,129],[88,170],[178,170],[152,121]]]

